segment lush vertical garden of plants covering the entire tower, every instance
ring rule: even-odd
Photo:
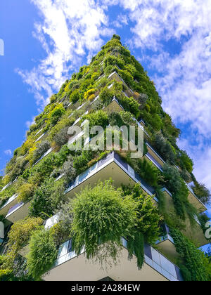
[[[114,98],[121,110],[110,107]],[[72,183],[112,151],[106,147],[103,151],[70,150],[69,127],[87,120],[90,126],[103,129],[133,125],[136,131],[143,122],[143,158],[132,159],[131,152],[122,148],[117,154],[153,188],[153,194],[144,191],[140,183],[115,185],[108,175],[67,197]],[[76,254],[85,247],[88,260],[112,267],[110,261],[119,263],[122,237],[127,240],[128,259],[135,256],[141,273],[144,244],[157,247],[163,224],[170,228],[177,251],[173,262],[184,280],[211,280],[210,259],[198,249],[201,244],[193,235],[194,228],[202,235],[205,232],[209,219],[205,209],[196,205],[205,208],[210,192],[193,175],[192,159],[177,146],[179,135],[180,130],[162,110],[153,81],[114,35],[89,65],[72,74],[51,96],[27,131],[25,143],[6,165],[5,176],[0,178],[0,221],[6,232],[0,280],[43,280],[60,245],[68,240]],[[161,167],[151,161],[152,151],[159,155],[155,156],[158,161],[162,159]],[[163,188],[170,192],[170,202]],[[4,209],[10,202],[23,211],[14,222]],[[46,220],[55,214],[57,222],[46,228]],[[25,255],[23,249],[27,249]]]

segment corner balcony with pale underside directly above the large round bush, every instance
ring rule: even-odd
[[[147,185],[138,173],[129,164],[124,162],[116,152],[111,152],[106,158],[91,166],[87,171],[77,176],[75,181],[70,183],[68,190],[65,191],[67,198],[73,197],[86,185],[95,185],[98,180],[105,181],[113,178],[114,185],[119,188],[122,184],[134,185],[139,183],[141,188],[151,197],[154,197],[155,190]],[[154,197],[158,202],[158,199]]]

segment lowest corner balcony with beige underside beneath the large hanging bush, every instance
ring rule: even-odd
[[[127,240],[122,238],[120,263],[111,268],[101,268],[94,261],[84,258],[84,249],[79,256],[72,251],[71,240],[60,246],[53,268],[44,275],[45,281],[98,281],[111,277],[115,281],[182,281],[179,268],[157,250],[145,245],[145,262],[139,270],[136,257],[128,259]]]

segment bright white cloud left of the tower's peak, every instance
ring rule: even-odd
[[[58,91],[70,72],[78,69],[82,58],[91,56],[103,45],[101,36],[112,35],[108,18],[94,0],[31,0],[39,9],[42,21],[34,25],[33,36],[39,39],[46,58],[32,70],[17,72],[43,107]],[[50,40],[50,41],[49,41]]]

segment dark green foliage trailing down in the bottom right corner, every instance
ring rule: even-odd
[[[196,281],[211,280],[211,264],[205,254],[198,250],[179,230],[171,230],[174,244],[181,260],[184,261],[184,267],[181,268],[184,279]]]

